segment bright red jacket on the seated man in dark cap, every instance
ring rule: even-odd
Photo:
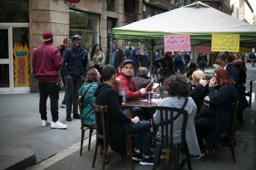
[[[147,93],[142,95],[142,93],[137,90],[134,79],[123,74],[122,71],[118,72],[117,78],[120,79],[121,88],[124,88],[124,91],[126,91],[126,100],[134,100],[135,98],[147,96]],[[116,88],[116,86],[114,88]]]

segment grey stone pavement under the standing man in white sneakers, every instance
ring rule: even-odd
[[[59,101],[63,95],[60,93]],[[41,127],[38,103],[39,93],[0,95],[0,169],[22,169],[79,142],[80,120],[67,122],[66,109],[59,106],[59,120],[68,129]],[[49,99],[47,108],[51,121]]]

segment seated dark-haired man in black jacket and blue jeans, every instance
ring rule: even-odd
[[[108,106],[106,114],[106,139],[113,151],[126,155],[126,135],[138,135],[142,143],[142,155],[138,153],[132,156],[135,161],[140,161],[142,165],[153,165],[150,156],[151,124],[149,121],[140,121],[139,117],[130,118],[123,113],[119,104],[122,103],[122,92],[120,79],[116,79],[116,69],[114,66],[106,65],[102,69],[103,83],[95,91],[95,104]],[[113,85],[116,85],[117,91]],[[118,92],[118,93],[117,93]],[[98,122],[97,122],[98,123]],[[100,124],[98,124],[100,128]]]

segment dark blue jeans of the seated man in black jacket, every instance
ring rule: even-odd
[[[133,135],[133,143],[142,145],[143,155],[150,155],[152,142],[151,124],[149,121],[140,121],[137,124],[126,124],[126,134]]]

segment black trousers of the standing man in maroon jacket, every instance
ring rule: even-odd
[[[47,121],[47,108],[46,101],[49,96],[51,100],[51,116],[53,122],[59,119],[59,83],[39,83],[38,87],[40,90],[40,101],[39,101],[39,112],[41,119]]]

